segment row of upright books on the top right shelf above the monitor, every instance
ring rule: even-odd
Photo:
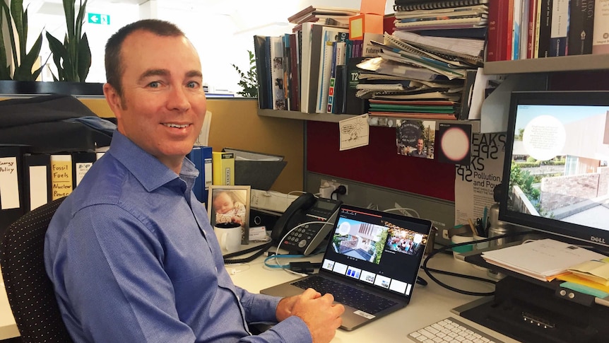
[[[587,0],[488,1],[487,61],[609,53],[607,11]],[[603,3],[604,4],[604,3]]]

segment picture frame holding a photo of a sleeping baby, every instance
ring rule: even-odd
[[[241,243],[249,244],[249,200],[252,186],[211,185],[207,214],[211,226],[218,223],[240,223]]]

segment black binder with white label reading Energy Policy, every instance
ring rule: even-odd
[[[13,221],[25,213],[20,190],[23,148],[0,145],[0,237]]]

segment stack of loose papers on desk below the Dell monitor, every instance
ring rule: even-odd
[[[605,255],[558,240],[534,240],[531,243],[485,251],[482,257],[490,264],[541,281],[551,281],[581,262],[601,260]]]

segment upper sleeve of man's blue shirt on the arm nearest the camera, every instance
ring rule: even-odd
[[[54,279],[87,342],[195,342],[177,315],[160,243],[133,216],[110,205],[80,211],[61,245]]]

